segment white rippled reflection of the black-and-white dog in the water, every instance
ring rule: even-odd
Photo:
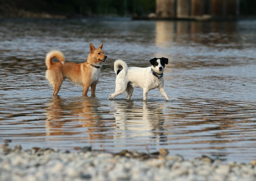
[[[132,101],[115,101],[116,132],[115,139],[149,139],[152,142],[167,141],[164,135],[163,105],[149,105],[143,102],[143,106],[135,105]]]

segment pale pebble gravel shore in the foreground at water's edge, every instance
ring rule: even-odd
[[[0,148],[0,180],[256,180],[256,161],[222,163],[207,156],[184,160],[167,150],[146,154],[94,153],[90,148],[62,152],[50,148]],[[167,151],[167,152],[166,152]]]

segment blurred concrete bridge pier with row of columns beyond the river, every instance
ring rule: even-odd
[[[240,0],[156,0],[156,14],[158,18],[232,18],[239,15],[239,4]]]

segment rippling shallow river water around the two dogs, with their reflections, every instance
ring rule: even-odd
[[[10,146],[118,152],[122,149],[194,158],[202,154],[249,162],[256,156],[256,21],[0,20],[0,139]],[[44,78],[44,57],[63,51],[84,62],[89,43],[108,55],[96,97],[64,82],[59,96]],[[136,88],[113,100],[113,63],[148,67],[167,57],[164,88],[143,101]],[[90,92],[88,92],[90,95]]]

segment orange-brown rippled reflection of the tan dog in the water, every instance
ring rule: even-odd
[[[53,96],[52,103],[45,109],[46,135],[81,135],[86,132],[89,139],[84,134],[84,137],[80,136],[81,140],[112,139],[113,137],[104,134],[106,125],[99,113],[99,107],[97,98],[79,97],[70,100]],[[84,129],[79,129],[81,127]]]

